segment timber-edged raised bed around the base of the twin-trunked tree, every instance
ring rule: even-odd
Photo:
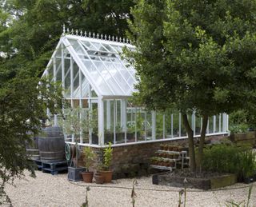
[[[186,178],[187,183],[184,183]],[[175,173],[155,174],[153,184],[195,189],[218,189],[237,182],[237,176],[230,173],[190,173],[176,171]]]

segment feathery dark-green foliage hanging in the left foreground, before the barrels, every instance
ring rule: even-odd
[[[5,73],[8,72],[0,66],[0,77]],[[34,174],[26,155],[26,144],[31,144],[31,137],[39,133],[42,120],[47,119],[46,108],[51,113],[56,112],[54,104],[61,105],[61,98],[57,86],[43,79],[30,78],[23,72],[0,82],[1,197],[5,197],[6,182],[21,177],[24,169]]]

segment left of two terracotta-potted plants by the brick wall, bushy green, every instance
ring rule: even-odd
[[[85,162],[86,172],[82,172],[82,178],[85,182],[92,182],[94,172],[90,171],[90,166],[94,163],[95,153],[90,147],[86,147],[83,149],[84,158],[83,161]]]

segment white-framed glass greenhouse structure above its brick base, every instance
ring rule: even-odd
[[[68,107],[65,117],[78,118],[78,134],[64,132],[66,142],[78,145],[130,145],[186,137],[181,113],[149,111],[130,102],[138,82],[136,70],[122,58],[122,49],[135,50],[129,40],[66,30],[50,58],[43,77],[60,82]],[[69,124],[57,114],[53,125]],[[194,136],[200,134],[202,118],[189,117]],[[66,124],[65,124],[66,122]],[[228,133],[226,113],[210,117],[206,135]]]

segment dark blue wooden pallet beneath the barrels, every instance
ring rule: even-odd
[[[43,173],[51,173],[52,175],[56,175],[61,172],[66,172],[68,167],[67,161],[41,161],[41,160],[33,160],[34,164],[37,165],[38,170],[42,170]]]

